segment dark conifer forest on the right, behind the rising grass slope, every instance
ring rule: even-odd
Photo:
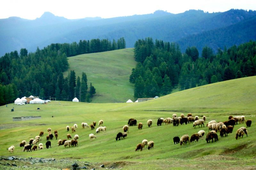
[[[210,83],[256,75],[256,42],[232,46],[214,54],[205,46],[201,57],[196,47],[182,54],[178,44],[153,41],[135,42],[134,56],[138,62],[132,69],[130,82],[134,97],[155,97]]]

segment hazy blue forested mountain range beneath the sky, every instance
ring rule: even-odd
[[[66,19],[46,12],[35,20],[18,17],[0,19],[0,56],[6,52],[26,48],[36,51],[51,43],[78,43],[81,39],[118,39],[124,37],[126,47],[133,47],[138,39],[152,37],[166,42],[180,43],[181,51],[196,46],[201,53],[205,45],[214,51],[255,40],[256,11],[229,10],[208,13],[189,10],[180,14],[156,11],[153,14],[102,19]],[[249,28],[247,28],[249,26]],[[246,28],[243,33],[242,28]],[[225,35],[225,36],[220,36]],[[191,38],[196,41],[190,41]],[[217,39],[217,40],[216,40]],[[193,43],[192,43],[193,42]]]

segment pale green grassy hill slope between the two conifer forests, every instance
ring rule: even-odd
[[[126,102],[134,101],[133,85],[129,82],[132,68],[136,66],[133,48],[126,48],[101,53],[83,54],[68,58],[70,70],[75,70],[76,77],[82,77],[85,72],[88,85],[96,88],[93,103]]]

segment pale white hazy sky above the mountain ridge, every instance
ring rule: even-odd
[[[182,13],[189,9],[223,12],[256,10],[256,0],[0,0],[0,18],[39,18],[45,11],[68,19],[113,18],[148,14],[156,10]]]

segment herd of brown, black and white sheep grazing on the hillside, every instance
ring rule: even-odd
[[[157,119],[157,126],[161,126],[162,124],[165,123],[165,125],[168,125],[168,124],[173,124],[173,126],[179,126],[180,125],[184,125],[184,123],[187,125],[188,123],[193,123],[193,127],[194,129],[197,127],[202,128],[202,126],[204,127],[204,123],[206,121],[206,117],[203,116],[202,119],[199,119],[199,116],[195,116],[193,117],[191,113],[188,113],[187,116],[185,116],[184,114],[181,114],[180,117],[177,117],[177,114],[173,114],[172,115],[172,118],[168,117],[168,118],[159,118]],[[237,125],[238,123],[241,124],[241,123],[246,123],[246,128],[248,127],[251,127],[251,124],[252,124],[252,121],[251,120],[245,120],[245,117],[244,116],[236,116],[236,117],[233,117],[233,116],[229,116],[228,117],[228,120],[227,121],[224,121],[224,122],[216,122],[215,120],[212,120],[212,121],[209,121],[207,124],[206,124],[206,127],[208,128],[208,133],[206,134],[206,142],[207,143],[210,143],[210,141],[212,140],[212,143],[213,143],[213,140],[216,142],[218,141],[218,134],[217,132],[220,132],[220,137],[225,137],[228,136],[229,133],[232,133],[233,132],[233,128],[235,125]],[[117,135],[116,135],[116,141],[117,140],[121,140],[121,139],[124,139],[125,137],[127,137],[127,134],[129,133],[129,126],[137,126],[137,120],[136,119],[129,119],[128,120],[128,125],[124,125],[123,126],[123,133],[122,132],[118,132]],[[148,128],[151,128],[153,124],[153,121],[151,119],[149,119],[147,121],[147,125],[148,125]],[[85,123],[85,122],[82,122],[82,129],[86,129],[88,127],[91,127],[91,130],[95,129],[95,126],[96,126],[96,122],[92,122],[92,124],[90,124],[90,126]],[[98,123],[98,128],[96,129],[96,133],[100,133],[100,132],[103,132],[105,133],[107,131],[107,128],[103,125],[103,120],[100,120],[99,123]],[[201,126],[200,126],[201,125]],[[141,130],[143,128],[143,123],[140,122],[138,123],[138,129]],[[243,136],[246,134],[248,134],[248,131],[245,127],[241,127],[239,129],[236,130],[236,139],[240,139],[240,138],[243,138]],[[67,132],[69,132],[69,129],[70,127],[69,126],[66,126],[66,130]],[[74,124],[74,126],[71,127],[71,131],[72,133],[76,132],[76,130],[78,129],[77,127],[77,124]],[[48,148],[51,148],[51,141],[53,139],[53,137],[55,137],[56,140],[58,140],[58,131],[57,130],[54,130],[54,136],[52,135],[52,129],[51,128],[48,128],[47,129],[47,136],[46,136],[46,143],[45,143],[45,147],[48,149]],[[178,144],[180,143],[180,145],[186,145],[187,143],[193,143],[193,142],[198,142],[199,139],[204,139],[204,134],[205,134],[205,131],[204,130],[199,130],[197,133],[194,133],[192,134],[191,136],[189,136],[188,134],[186,135],[183,135],[181,137],[173,137],[173,142],[174,144]],[[42,137],[44,136],[44,132],[41,131],[39,132],[39,135],[34,138],[31,138],[29,139],[28,143],[26,142],[26,140],[23,140],[21,143],[20,143],[20,147],[23,147],[23,152],[27,151],[27,152],[32,152],[32,151],[37,151],[37,148],[38,150],[41,150],[41,149],[44,149],[43,147],[43,144],[42,143],[39,143],[39,141],[42,139]],[[95,136],[93,133],[91,133],[89,135],[89,139],[92,141],[93,139],[96,139],[97,136]],[[72,139],[72,135],[71,134],[67,134],[67,139],[59,139],[58,142],[57,142],[57,146],[60,146],[60,145],[64,145],[64,147],[68,148],[70,147],[70,145],[73,147],[73,146],[78,146],[78,139],[79,139],[79,136],[77,134],[74,135],[73,139]],[[37,146],[37,143],[38,146]],[[32,147],[33,146],[33,147]],[[136,148],[135,148],[135,151],[142,151],[143,148],[147,147],[148,150],[151,150],[151,149],[154,149],[154,141],[149,141],[147,139],[143,139],[141,143],[137,144],[136,145]],[[15,150],[15,146],[10,146],[8,148],[8,151],[10,153],[13,153]]]

